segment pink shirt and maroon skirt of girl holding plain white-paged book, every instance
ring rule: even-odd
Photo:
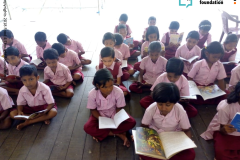
[[[116,114],[116,109],[125,106],[123,91],[117,86],[113,86],[112,92],[106,98],[102,96],[100,90],[92,89],[89,92],[87,108],[96,109],[102,117],[113,118]],[[84,130],[87,134],[101,141],[108,136],[110,131],[113,134],[119,134],[132,129],[136,125],[136,121],[130,115],[129,117],[117,129],[99,129],[98,119],[91,115],[84,125]]]

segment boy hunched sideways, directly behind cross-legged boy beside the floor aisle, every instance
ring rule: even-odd
[[[74,81],[83,80],[84,75],[82,73],[82,64],[78,58],[76,52],[65,48],[61,43],[54,43],[52,45],[53,49],[58,51],[59,60],[58,62],[66,65],[71,71],[72,78]]]

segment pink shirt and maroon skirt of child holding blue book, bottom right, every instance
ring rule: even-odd
[[[221,124],[229,124],[235,114],[240,112],[240,105],[238,102],[228,104],[227,100],[223,100],[219,103],[217,110],[218,112],[210,122],[207,131],[202,133],[201,137],[205,140],[214,140],[216,159],[240,159],[240,132],[222,134],[219,131]]]

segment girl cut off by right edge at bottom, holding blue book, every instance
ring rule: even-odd
[[[240,132],[230,122],[240,112],[240,82],[226,100],[218,104],[218,112],[207,130],[201,134],[205,140],[214,140],[215,158],[218,160],[240,159]]]

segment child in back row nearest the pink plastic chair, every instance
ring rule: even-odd
[[[204,48],[205,42],[207,42],[207,45],[209,45],[212,42],[212,36],[209,33],[210,29],[212,27],[212,24],[208,20],[203,20],[200,22],[198,28],[199,28],[199,41],[198,41],[198,47],[199,48]]]

